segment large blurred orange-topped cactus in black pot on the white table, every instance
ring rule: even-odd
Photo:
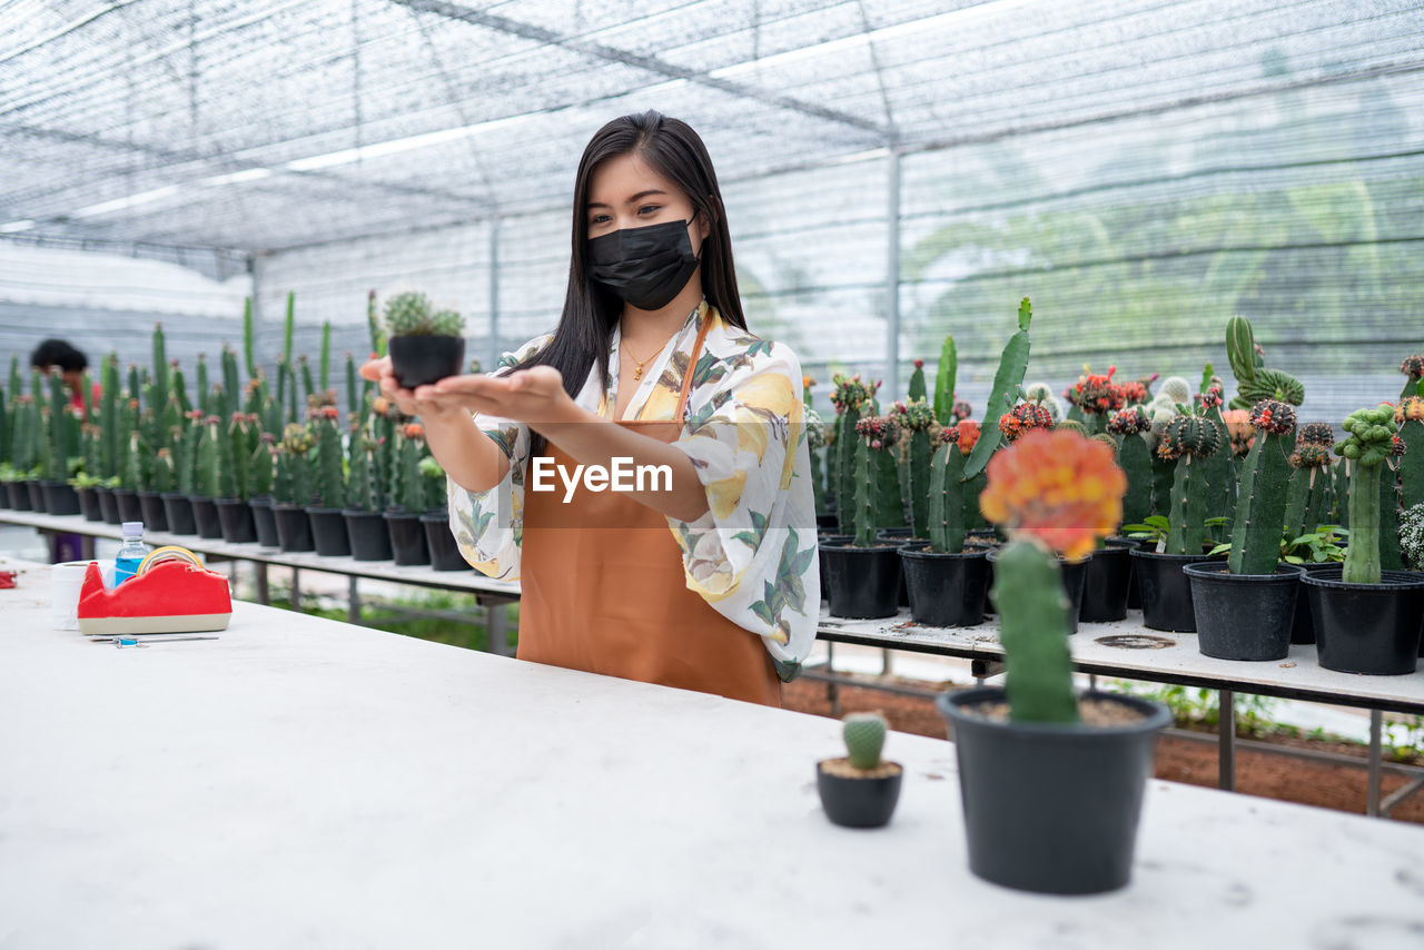
[[[1051,501],[1048,484],[1074,483]],[[1156,734],[1171,714],[1109,692],[1074,695],[1058,560],[1121,520],[1112,451],[1072,430],[1035,432],[990,461],[981,507],[1008,531],[995,568],[1005,684],[941,694],[953,728],[970,870],[1005,887],[1084,894],[1122,887]]]

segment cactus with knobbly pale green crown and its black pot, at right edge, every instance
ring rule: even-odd
[[[1398,506],[1390,461],[1404,451],[1388,404],[1357,409],[1334,446],[1350,463],[1350,546],[1336,571],[1304,575],[1316,648],[1326,669],[1410,674],[1424,627],[1424,577],[1381,565],[1381,507]],[[1398,534],[1390,541],[1398,546]]]

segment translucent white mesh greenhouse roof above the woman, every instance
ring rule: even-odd
[[[9,0],[0,27],[0,236],[241,252],[560,207],[649,107],[729,181],[1420,68],[1407,0]]]

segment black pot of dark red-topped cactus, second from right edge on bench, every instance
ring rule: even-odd
[[[1300,568],[1230,574],[1220,561],[1182,568],[1192,585],[1196,648],[1218,659],[1284,659],[1296,617]]]

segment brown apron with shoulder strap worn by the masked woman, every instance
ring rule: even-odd
[[[692,386],[703,318],[671,420],[621,420],[675,442]],[[568,471],[577,464],[548,443]],[[782,684],[762,638],[688,590],[682,550],[666,518],[619,491],[580,481],[564,503],[555,491],[524,493],[518,658],[608,677],[782,705]]]

